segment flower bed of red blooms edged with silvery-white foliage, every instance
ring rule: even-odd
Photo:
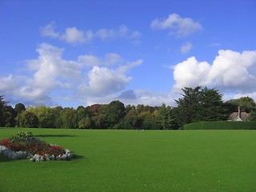
[[[0,140],[0,154],[10,159],[29,158],[35,162],[73,158],[70,150],[42,142],[31,132],[18,132],[15,136]]]

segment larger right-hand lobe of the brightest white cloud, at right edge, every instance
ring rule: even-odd
[[[256,88],[256,51],[219,50],[213,62],[209,78],[216,86],[231,90]]]

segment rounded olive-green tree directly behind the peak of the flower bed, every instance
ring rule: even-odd
[[[24,110],[19,114],[18,120],[18,125],[21,127],[37,128],[39,124],[38,117],[29,110]]]

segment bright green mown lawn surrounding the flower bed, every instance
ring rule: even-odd
[[[255,130],[0,129],[32,131],[72,161],[0,156],[0,191],[256,191]]]

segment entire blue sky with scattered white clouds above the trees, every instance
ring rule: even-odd
[[[184,86],[256,98],[256,2],[0,1],[0,95],[14,105],[174,106]]]

